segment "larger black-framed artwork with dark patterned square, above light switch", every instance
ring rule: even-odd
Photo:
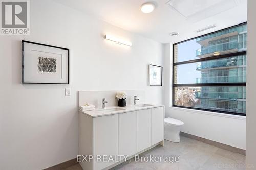
[[[23,84],[69,84],[69,49],[22,41]]]

